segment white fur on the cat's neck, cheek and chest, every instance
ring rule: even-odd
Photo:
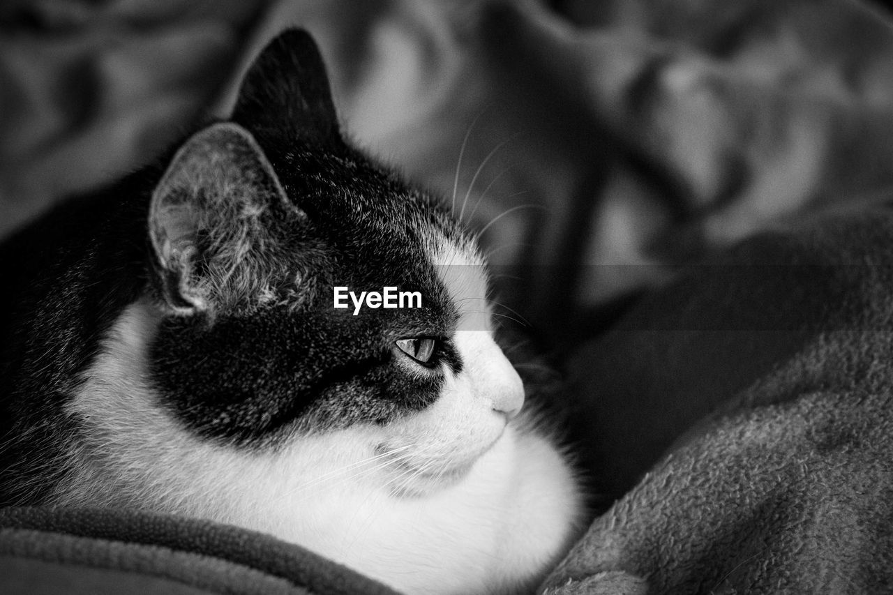
[[[159,405],[146,356],[158,321],[138,301],[104,340],[71,401],[90,439],[72,449],[76,477],[57,503],[237,524],[407,593],[530,587],[576,531],[580,492],[563,457],[519,418],[506,425],[516,412],[488,392],[505,390],[508,364],[493,363],[492,339],[458,339],[480,365],[419,414],[249,453],[198,440]],[[490,374],[502,380],[472,386]]]

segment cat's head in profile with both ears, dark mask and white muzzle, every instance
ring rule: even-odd
[[[267,46],[229,122],[179,148],[149,236],[149,377],[200,440],[263,451],[353,431],[416,493],[461,478],[522,406],[474,240],[342,138],[302,31]]]

